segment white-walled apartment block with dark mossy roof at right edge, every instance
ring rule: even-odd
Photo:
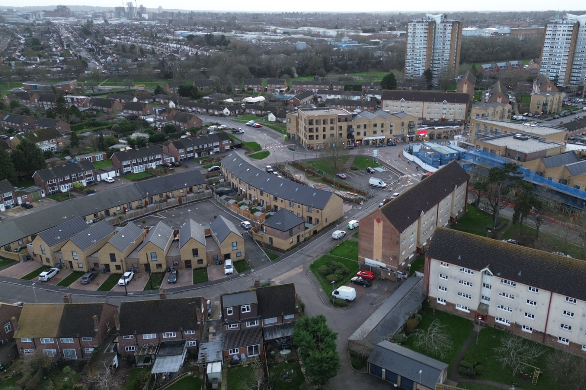
[[[432,307],[586,353],[584,261],[438,227],[424,267]]]

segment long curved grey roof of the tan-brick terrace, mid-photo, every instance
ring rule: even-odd
[[[222,160],[222,166],[235,177],[261,191],[304,206],[323,210],[332,196],[337,196],[333,192],[278,178],[258,169],[236,153],[226,156]]]

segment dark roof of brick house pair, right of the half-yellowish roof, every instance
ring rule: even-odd
[[[199,330],[197,310],[201,308],[200,297],[123,301],[120,303],[120,334]]]

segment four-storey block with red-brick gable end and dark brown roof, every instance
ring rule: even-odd
[[[364,217],[360,220],[358,260],[406,270],[415,254],[427,249],[437,226],[447,226],[464,213],[469,179],[452,161]]]

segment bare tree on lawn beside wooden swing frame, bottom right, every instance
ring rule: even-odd
[[[524,340],[513,334],[505,334],[500,338],[502,346],[493,348],[496,360],[503,367],[513,370],[513,375],[519,372],[523,364],[534,364],[546,349],[534,341]]]

